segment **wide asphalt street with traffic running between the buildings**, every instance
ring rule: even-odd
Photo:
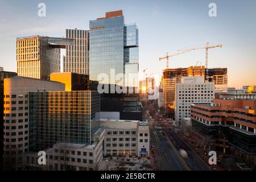
[[[151,146],[155,146],[153,151],[160,170],[210,170],[207,164],[191,150],[174,130],[166,126],[162,129],[161,127],[155,127],[159,125],[148,112],[144,114],[144,119],[147,119],[150,125]],[[164,137],[164,134],[168,138]],[[187,152],[187,158],[180,156],[178,152],[180,149]]]

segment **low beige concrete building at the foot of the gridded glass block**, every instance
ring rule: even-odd
[[[57,142],[47,148],[46,165],[38,164],[38,153],[23,155],[23,166],[34,166],[47,171],[94,171],[100,168],[103,158],[104,129],[94,133],[92,144],[73,144]]]

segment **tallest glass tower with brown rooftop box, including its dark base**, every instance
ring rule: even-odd
[[[122,10],[106,13],[105,17],[90,20],[89,41],[90,80],[114,86],[101,97],[102,111],[111,111],[115,100],[123,102],[122,112],[141,119],[142,107],[138,102],[139,47],[136,24],[125,24]],[[115,89],[121,87],[122,94]],[[127,88],[129,87],[129,88]],[[125,89],[127,90],[125,92]],[[121,96],[117,96],[120,94]]]

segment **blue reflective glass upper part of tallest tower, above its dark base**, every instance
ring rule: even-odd
[[[90,20],[90,80],[101,84],[138,87],[138,28],[125,24],[122,11],[106,13],[104,18]],[[122,79],[113,78],[123,74]],[[100,76],[100,77],[98,77]]]

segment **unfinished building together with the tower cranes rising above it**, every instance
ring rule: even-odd
[[[169,117],[175,116],[175,85],[180,83],[181,79],[185,76],[203,76],[204,82],[214,82],[216,92],[227,92],[228,89],[228,69],[227,68],[208,68],[208,49],[222,47],[222,45],[209,46],[209,43],[205,47],[196,47],[178,50],[173,55],[167,55],[159,57],[159,60],[166,60],[166,69],[163,70],[163,76],[161,79],[163,85],[163,102],[165,106],[166,114]],[[188,68],[169,68],[169,58],[187,53],[197,49],[205,49],[205,66],[191,66]],[[198,63],[198,61],[197,61]]]

